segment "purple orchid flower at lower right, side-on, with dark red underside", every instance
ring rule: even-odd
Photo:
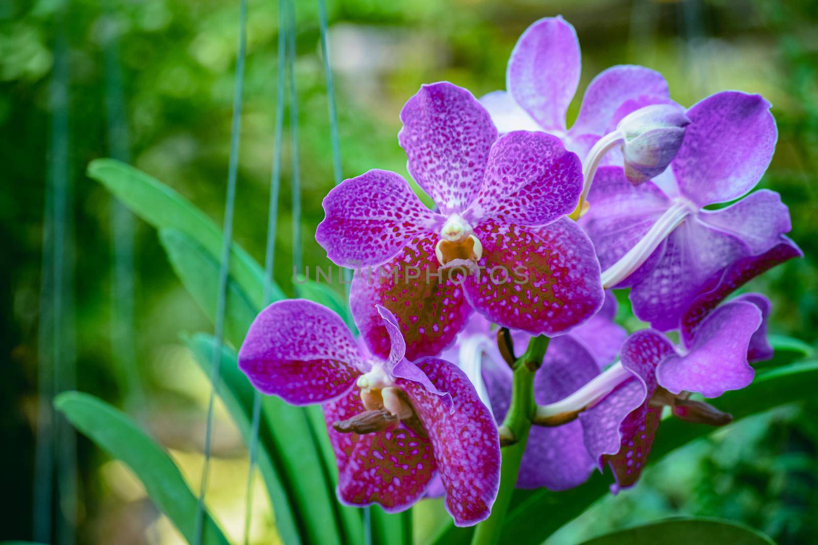
[[[600,471],[607,464],[613,472],[613,492],[639,478],[663,406],[671,406],[674,416],[691,422],[730,422],[729,414],[688,398],[690,393],[717,397],[748,386],[754,376],[748,355],[760,342],[761,325],[762,310],[753,298],[745,298],[718,307],[676,348],[652,329],[627,338],[620,355],[624,379],[622,371],[607,371],[618,385],[579,414],[588,452]]]

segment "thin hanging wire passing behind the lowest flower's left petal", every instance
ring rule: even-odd
[[[276,67],[276,128],[272,150],[270,175],[270,203],[267,208],[267,251],[264,256],[264,305],[272,299],[272,272],[276,258],[276,231],[278,221],[278,194],[281,189],[281,138],[284,132],[284,64],[286,48],[285,3],[278,2],[278,65]],[[245,497],[245,545],[250,539],[250,520],[253,517],[253,476],[258,451],[258,427],[261,421],[261,392],[254,391],[253,419],[250,423],[249,469],[247,471],[247,495]]]

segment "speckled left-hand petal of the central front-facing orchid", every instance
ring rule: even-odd
[[[324,198],[324,211],[315,238],[331,261],[350,268],[389,261],[412,238],[445,221],[402,176],[385,170],[341,182]]]

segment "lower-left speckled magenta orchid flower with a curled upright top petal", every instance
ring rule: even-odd
[[[338,497],[402,511],[439,476],[456,525],[488,517],[500,481],[491,412],[456,365],[411,363],[393,315],[378,308],[389,355],[362,352],[344,321],[305,300],[263,310],[239,351],[259,391],[294,405],[321,403],[338,462]]]

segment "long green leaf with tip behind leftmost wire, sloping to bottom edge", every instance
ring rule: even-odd
[[[196,333],[193,337],[186,337],[185,342],[195,356],[205,376],[209,376],[211,358],[213,357],[213,337],[204,333]],[[245,444],[249,444],[250,426],[253,418],[253,388],[249,386],[247,377],[241,373],[236,365],[236,353],[222,345],[222,355],[219,360],[219,377],[216,391],[227,406]],[[267,427],[259,431],[259,448],[256,451],[258,470],[267,486],[273,511],[276,514],[276,530],[281,541],[287,543],[302,543],[300,535],[306,535],[308,520],[299,520],[299,511],[290,506],[290,490],[287,483],[281,479],[281,461],[276,458],[275,445],[272,444]]]

